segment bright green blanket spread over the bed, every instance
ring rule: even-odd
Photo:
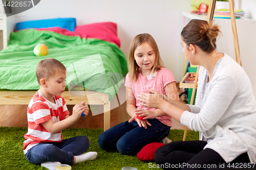
[[[38,43],[48,46],[47,56],[33,55],[33,48]],[[82,84],[83,88],[107,93],[110,101],[118,93],[118,88],[112,86],[120,87],[120,79],[127,72],[125,55],[115,43],[81,38],[79,33],[61,28],[25,29],[11,33],[8,46],[0,52],[0,89],[39,89],[36,65],[40,60],[50,57],[67,67],[67,89],[75,81],[76,84]],[[69,74],[74,70],[79,82],[74,75]]]

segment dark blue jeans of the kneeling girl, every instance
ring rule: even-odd
[[[128,121],[120,123],[98,138],[99,147],[103,150],[118,150],[123,155],[136,155],[148,143],[160,142],[169,135],[170,127],[157,119],[147,119],[151,126],[147,129],[139,127],[138,123]]]

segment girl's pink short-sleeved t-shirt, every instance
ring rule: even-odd
[[[147,77],[142,76],[141,72],[139,72],[139,76],[136,82],[130,82],[129,73],[126,75],[125,86],[131,88],[133,90],[135,99],[136,99],[136,108],[137,109],[145,109],[145,110],[156,110],[156,108],[147,108],[145,106],[140,105],[140,101],[137,100],[138,95],[141,93],[147,93],[148,89],[153,89],[166,95],[164,91],[164,87],[171,83],[176,82],[172,71],[167,68],[160,68],[157,71],[155,77],[152,80],[148,80]],[[172,117],[169,115],[156,117],[156,119],[160,120],[164,125],[172,126]]]

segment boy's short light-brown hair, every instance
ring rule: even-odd
[[[41,60],[35,70],[37,82],[41,85],[40,80],[46,79],[48,80],[52,77],[57,71],[65,71],[66,67],[58,60],[54,58],[47,58],[45,60]]]

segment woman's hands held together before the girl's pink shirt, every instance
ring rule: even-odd
[[[159,108],[160,105],[165,100],[166,96],[155,91],[155,90],[148,90],[150,93],[142,93],[138,95],[138,99],[142,106],[145,107],[152,107],[152,108]]]

